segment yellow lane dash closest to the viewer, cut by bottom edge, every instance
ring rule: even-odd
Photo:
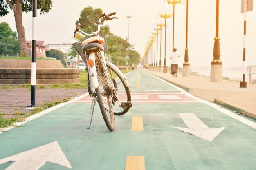
[[[125,170],[145,170],[145,157],[127,156]]]

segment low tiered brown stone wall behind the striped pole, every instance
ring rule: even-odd
[[[63,68],[59,60],[36,61],[37,85],[78,83],[79,73],[79,69]],[[0,59],[0,84],[31,84],[31,61]]]

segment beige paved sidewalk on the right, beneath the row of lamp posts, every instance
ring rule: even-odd
[[[207,77],[182,77],[182,74],[173,77],[170,73],[146,69],[144,71],[180,86],[197,97],[221,104],[247,117],[256,118],[256,84],[247,83],[247,88],[239,88],[240,82],[223,80],[218,83],[210,82],[210,78]]]

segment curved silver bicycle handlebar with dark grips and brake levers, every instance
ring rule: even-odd
[[[99,31],[101,30],[101,21],[102,21],[102,20],[109,21],[109,20],[112,20],[112,19],[118,19],[117,17],[109,18],[110,16],[113,16],[113,15],[115,15],[115,14],[116,14],[116,12],[112,12],[112,13],[110,13],[110,14],[108,14],[108,15],[106,15],[105,13],[103,13],[103,14],[101,15],[101,18],[100,18],[99,21],[98,21],[98,29],[97,29],[97,31],[92,32],[92,33],[90,33],[90,34],[85,33],[84,31],[82,31],[81,28],[80,28],[82,25],[81,25],[80,23],[77,23],[77,24],[76,24],[76,31],[74,32],[74,37],[76,36],[76,33],[77,33],[77,32],[80,32],[80,33],[82,33],[83,35],[87,35],[87,36],[97,35],[97,33],[99,33]]]

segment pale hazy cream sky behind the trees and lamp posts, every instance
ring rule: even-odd
[[[128,37],[128,18],[130,18],[129,42],[141,56],[144,54],[149,36],[155,23],[164,22],[158,13],[173,13],[173,5],[166,0],[53,0],[52,10],[37,17],[37,40],[47,44],[74,42],[72,35],[81,11],[91,6],[101,8],[108,14],[115,11],[118,20],[106,21],[110,31],[122,38]],[[223,69],[243,66],[243,28],[244,15],[241,14],[241,0],[220,0],[219,18],[220,59]],[[256,65],[256,2],[254,10],[247,13],[246,66]],[[13,12],[0,18],[16,31]],[[23,13],[23,26],[26,39],[32,38],[32,13]],[[173,17],[166,20],[166,58],[167,65],[172,51]],[[213,45],[216,31],[216,0],[189,0],[189,62],[192,69],[210,68],[213,60]],[[186,47],[186,3],[175,6],[174,46],[180,53],[179,64],[184,62]],[[159,35],[160,41],[160,35]],[[160,43],[159,43],[160,44]],[[158,50],[159,51],[159,50]],[[162,60],[164,58],[164,29],[162,31]],[[159,56],[159,55],[158,55]],[[243,72],[243,71],[242,71]]]

